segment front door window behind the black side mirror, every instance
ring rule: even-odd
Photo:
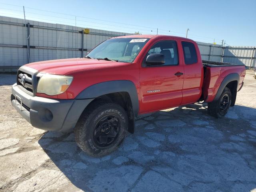
[[[178,65],[178,51],[176,41],[164,40],[157,42],[146,54],[144,62],[146,62],[147,56],[153,53],[160,53],[164,55],[165,63],[160,66]]]

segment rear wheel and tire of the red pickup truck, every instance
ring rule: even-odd
[[[211,116],[222,118],[228,112],[231,104],[231,91],[225,87],[220,98],[216,101],[208,103],[208,112]]]

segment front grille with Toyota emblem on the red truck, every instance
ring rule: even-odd
[[[19,70],[17,74],[17,85],[34,94],[32,85],[32,74],[28,74]]]

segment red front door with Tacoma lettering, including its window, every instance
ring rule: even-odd
[[[140,68],[140,113],[178,106],[182,102],[184,67],[178,55],[178,42],[161,40],[151,46]],[[152,53],[164,54],[162,65],[147,65]]]

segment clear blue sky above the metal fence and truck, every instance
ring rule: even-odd
[[[256,46],[256,0],[0,0],[0,16]]]

